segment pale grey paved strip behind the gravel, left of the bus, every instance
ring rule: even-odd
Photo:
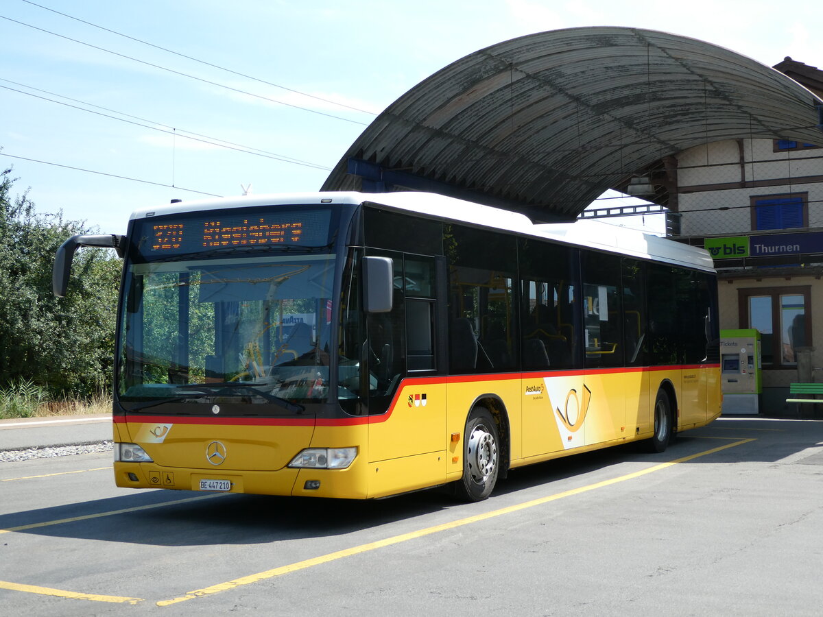
[[[111,440],[111,414],[0,420],[0,452]]]

